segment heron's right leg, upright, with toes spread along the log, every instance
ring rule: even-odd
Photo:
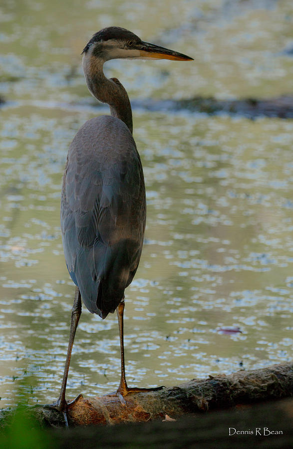
[[[155,387],[155,388],[129,388],[126,383],[125,378],[125,362],[124,362],[124,331],[123,331],[123,312],[124,312],[124,297],[122,301],[119,303],[117,307],[117,316],[118,316],[118,324],[119,324],[119,337],[120,337],[120,354],[121,354],[121,379],[120,384],[118,387],[118,390],[116,392],[116,395],[118,396],[121,404],[126,407],[126,402],[124,399],[124,396],[126,396],[128,393],[139,393],[144,391],[158,391],[164,388],[162,387]]]

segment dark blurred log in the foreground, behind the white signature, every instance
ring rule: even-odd
[[[282,417],[282,419],[280,419]],[[130,423],[50,429],[51,447],[68,448],[291,448],[293,399],[234,407],[229,410],[184,415],[175,422]],[[97,443],[98,442],[98,443]],[[3,445],[3,448],[8,448]]]

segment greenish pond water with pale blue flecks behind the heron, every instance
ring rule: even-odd
[[[107,63],[107,76],[136,104],[269,98],[292,91],[292,18],[290,0],[1,4],[1,407],[21,395],[31,404],[55,400],[62,379],[74,286],[60,238],[61,178],[78,128],[108,113],[84,83],[86,41],[116,24],[195,58]],[[133,114],[148,215],[126,291],[129,385],[176,385],[292,359],[292,120]],[[226,327],[241,332],[219,331]],[[84,308],[68,397],[113,391],[119,372],[116,316],[102,321]]]

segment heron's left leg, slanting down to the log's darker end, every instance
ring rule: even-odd
[[[64,367],[64,374],[63,374],[60,396],[57,399],[57,401],[54,402],[53,404],[46,404],[44,406],[46,408],[53,408],[53,409],[58,410],[59,412],[63,412],[66,427],[68,427],[66,411],[68,409],[70,409],[73,406],[73,404],[81,397],[81,395],[78,395],[77,398],[75,398],[73,401],[71,401],[69,403],[67,403],[65,400],[65,391],[66,391],[67,377],[68,377],[68,371],[69,371],[69,365],[70,365],[70,359],[71,359],[71,352],[72,352],[74,336],[75,336],[75,332],[76,332],[76,328],[77,328],[77,324],[78,324],[80,315],[81,315],[81,296],[80,296],[79,288],[76,287],[75,295],[74,295],[74,302],[73,302],[72,311],[71,311],[69,342],[68,342],[67,356],[66,356],[66,362],[65,362],[65,367]]]

